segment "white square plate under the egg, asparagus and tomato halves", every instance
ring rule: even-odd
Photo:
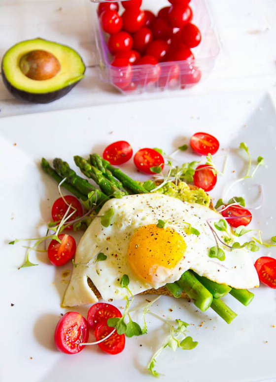
[[[272,98],[268,93],[245,92],[159,99],[3,118],[0,123],[2,381],[153,381],[145,366],[164,340],[166,328],[150,316],[149,334],[128,339],[120,355],[108,356],[96,347],[74,356],[55,349],[55,326],[66,311],[60,307],[69,280],[64,272],[70,265],[57,269],[48,263],[46,254],[32,253],[31,261],[39,265],[18,270],[25,249],[20,243],[7,244],[15,238],[43,235],[45,221],[50,220],[57,185],[40,170],[39,161],[41,157],[61,157],[73,167],[73,155],[102,153],[107,144],[119,139],[129,141],[134,151],[161,147],[170,153],[188,143],[193,133],[207,131],[221,144],[214,157],[218,166],[222,167],[225,154],[229,157],[226,174],[210,192],[217,200],[246,169],[247,158],[237,150],[244,141],[252,158],[261,155],[266,165],[253,179],[231,190],[229,198],[242,195],[247,206],[257,206],[260,194],[256,185],[262,184],[264,204],[253,212],[251,226],[261,228],[263,239],[269,240],[276,234],[276,111]],[[177,156],[180,163],[198,158],[191,149]],[[136,178],[146,178],[134,170],[132,161],[124,169]],[[252,253],[252,261],[260,255],[276,257],[275,248]],[[157,370],[165,375],[161,381],[275,382],[275,293],[261,286],[248,307],[227,296],[226,303],[238,313],[231,325],[210,309],[202,313],[186,300],[162,297],[154,311],[193,324],[189,335],[199,345],[192,351],[165,349],[157,362]],[[88,307],[76,310],[85,316]]]

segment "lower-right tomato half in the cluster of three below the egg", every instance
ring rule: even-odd
[[[96,340],[102,340],[111,333],[113,328],[107,326],[106,321],[100,322],[95,329]],[[108,354],[119,354],[125,348],[126,337],[124,334],[119,335],[116,331],[107,340],[98,344],[98,346]]]

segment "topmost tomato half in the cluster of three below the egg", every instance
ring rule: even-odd
[[[95,329],[100,322],[114,317],[122,317],[122,313],[116,306],[105,302],[97,302],[88,310],[87,322],[92,329]]]

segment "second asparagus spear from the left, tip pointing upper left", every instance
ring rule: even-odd
[[[53,161],[55,170],[63,177],[67,178],[69,184],[78,189],[82,194],[88,195],[90,192],[95,192],[97,195],[97,205],[104,203],[108,197],[100,190],[92,186],[88,180],[78,176],[74,170],[71,170],[67,162],[62,159],[55,158]],[[96,197],[95,197],[96,198]]]

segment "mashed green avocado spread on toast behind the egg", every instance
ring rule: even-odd
[[[178,198],[182,200],[182,202],[198,203],[207,207],[209,207],[211,201],[210,197],[202,188],[193,190],[190,189],[187,183],[181,181],[178,182],[177,185],[173,182],[168,182],[163,187],[153,192],[159,192],[161,194]]]

